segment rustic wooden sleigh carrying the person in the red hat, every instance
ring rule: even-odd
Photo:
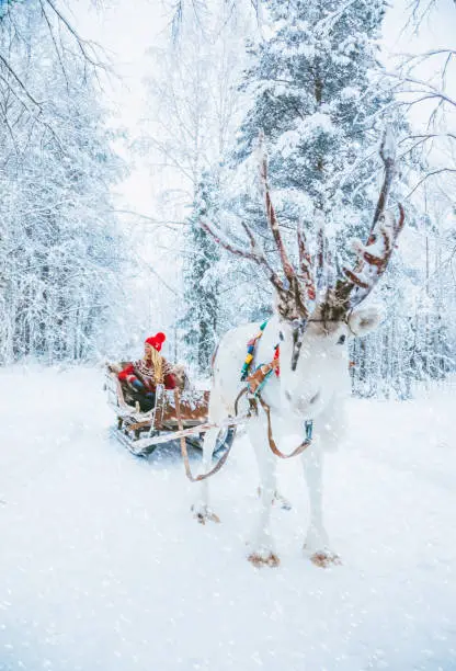
[[[136,456],[151,454],[161,443],[181,437],[197,447],[203,446],[204,433],[216,425],[208,421],[209,391],[198,390],[190,385],[179,389],[181,422],[178,420],[175,394],[163,385],[157,385],[156,403],[148,412],[141,412],[138,405],[128,399],[128,391],[121,384],[117,372],[126,365],[106,366],[105,389],[107,403],[117,417],[112,434]],[[181,423],[181,428],[179,427]],[[236,422],[235,420],[235,423]],[[219,435],[215,452],[229,448],[236,433],[233,420],[217,425]]]

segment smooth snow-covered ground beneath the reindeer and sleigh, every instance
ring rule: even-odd
[[[323,570],[301,555],[298,460],[280,465],[282,564],[254,569],[247,439],[213,480],[223,523],[201,526],[179,448],[136,459],[110,440],[101,387],[90,368],[0,372],[2,671],[456,669],[451,393],[350,401],[326,464],[343,565]]]

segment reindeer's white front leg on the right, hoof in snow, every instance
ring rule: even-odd
[[[301,458],[310,502],[310,524],[304,549],[317,566],[327,567],[330,564],[340,564],[338,555],[329,549],[329,538],[323,525],[323,451],[321,443],[316,441],[303,453]]]

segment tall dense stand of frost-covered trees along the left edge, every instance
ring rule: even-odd
[[[23,39],[1,37],[39,118],[3,81],[0,361],[86,359],[103,343],[119,293],[124,251],[110,185],[122,163],[84,59],[68,37],[56,46],[39,2],[10,11]]]

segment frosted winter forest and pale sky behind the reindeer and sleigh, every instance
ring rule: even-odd
[[[168,357],[207,376],[219,336],[271,309],[267,280],[201,229],[242,240],[248,218],[269,249],[259,129],[289,241],[301,220],[334,273],[368,230],[389,125],[407,229],[353,388],[447,383],[454,27],[451,0],[1,0],[0,363],[129,357],[164,330]]]

